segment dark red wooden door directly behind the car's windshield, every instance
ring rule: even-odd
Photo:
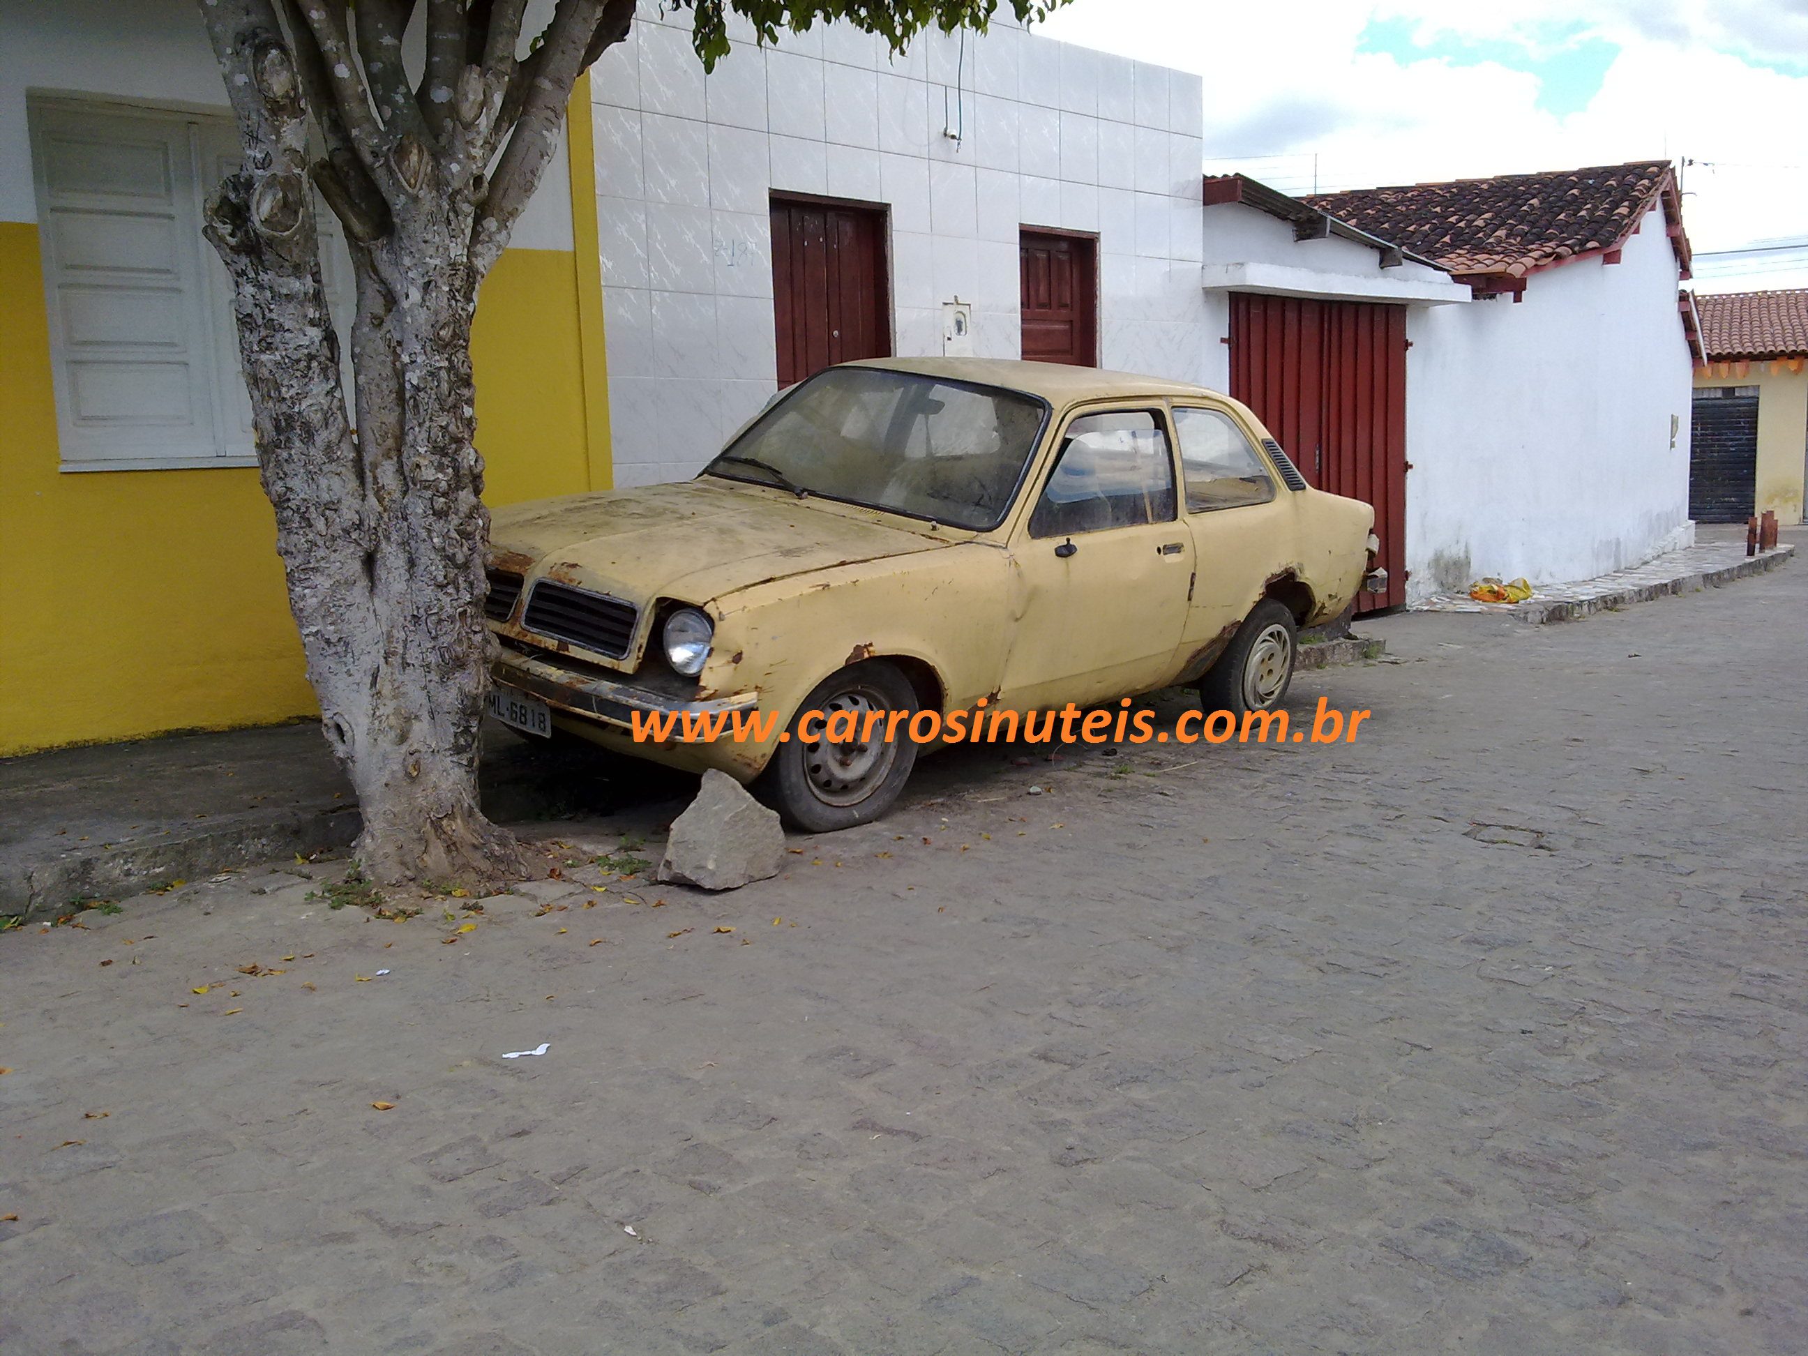
[[[884,210],[774,197],[772,311],[781,387],[891,356]]]

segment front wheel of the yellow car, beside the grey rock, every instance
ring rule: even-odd
[[[871,741],[832,745],[823,738],[824,718],[812,723],[814,739],[799,738],[797,725],[812,711],[853,711],[864,725],[866,712],[918,709],[917,689],[895,664],[864,660],[819,682],[797,707],[772,763],[759,777],[759,790],[785,823],[806,833],[832,833],[879,819],[904,790],[917,765],[911,739],[886,739],[875,729]]]

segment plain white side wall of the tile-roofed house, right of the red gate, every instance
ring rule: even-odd
[[[1408,600],[1484,575],[1591,579],[1694,541],[1676,286],[1654,210],[1618,264],[1535,273],[1517,304],[1408,311]]]

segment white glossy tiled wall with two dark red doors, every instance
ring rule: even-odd
[[[1201,378],[1197,76],[996,20],[897,58],[743,25],[705,78],[687,20],[635,20],[591,72],[617,485],[694,474],[772,394],[774,190],[891,206],[899,354],[940,353],[958,297],[976,353],[1016,358],[1018,228],[1056,226],[1099,233],[1105,365]]]

